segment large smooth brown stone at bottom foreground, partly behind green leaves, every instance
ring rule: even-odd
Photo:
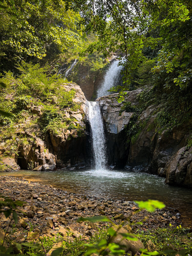
[[[114,230],[117,231],[117,235],[111,237],[111,243],[119,244],[120,248],[125,250],[125,252],[131,251],[132,255],[135,255],[137,252],[140,252],[140,249],[144,249],[143,243],[138,239],[137,241],[127,240],[121,235],[121,233],[127,233],[127,230],[124,228],[119,228],[119,226],[114,226]]]

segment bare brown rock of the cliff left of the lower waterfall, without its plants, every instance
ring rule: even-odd
[[[56,126],[54,132],[52,129],[48,129],[47,132],[42,133],[41,118],[43,115],[49,114],[50,111],[44,112],[43,105],[26,106],[31,111],[28,118],[24,119],[23,123],[12,127],[13,132],[10,134],[10,138],[1,138],[1,169],[28,168],[36,171],[51,171],[85,166],[87,100],[78,85],[63,84],[62,86],[66,92],[75,91],[72,101],[78,104],[75,111],[69,107],[63,109],[62,114],[66,120],[66,128],[57,129]],[[33,116],[37,117],[35,124],[32,122],[34,121]],[[14,151],[11,150],[8,140],[11,140],[11,143],[16,142]]]

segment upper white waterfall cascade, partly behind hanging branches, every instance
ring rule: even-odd
[[[119,73],[122,69],[122,66],[118,66],[119,60],[113,61],[113,63],[108,68],[107,73],[104,76],[104,82],[101,84],[100,88],[97,91],[97,98],[109,95],[108,90],[116,86],[118,83]]]

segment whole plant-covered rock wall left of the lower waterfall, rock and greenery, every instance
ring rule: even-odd
[[[81,168],[85,166],[86,99],[77,84],[47,68],[23,63],[21,75],[2,78],[1,170]],[[67,82],[67,83],[66,83]]]

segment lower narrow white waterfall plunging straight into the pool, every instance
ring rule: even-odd
[[[99,103],[97,101],[88,101],[88,105],[89,122],[92,130],[92,145],[95,160],[95,169],[101,170],[106,166],[106,146],[103,120],[100,113]]]

